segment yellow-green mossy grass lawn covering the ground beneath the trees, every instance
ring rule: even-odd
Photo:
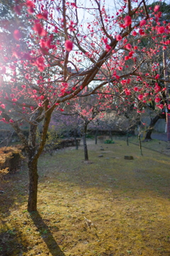
[[[170,161],[151,150],[169,149],[157,140],[143,145],[150,149],[141,156],[125,140],[89,140],[89,162],[82,146],[42,155],[38,213],[26,211],[26,166],[8,176],[1,184],[0,255],[170,255]]]

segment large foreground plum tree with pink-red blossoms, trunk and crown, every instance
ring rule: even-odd
[[[148,63],[169,46],[170,25],[159,23],[158,5],[149,18],[145,0],[113,1],[112,9],[97,0],[86,6],[76,0],[8,2],[10,11],[1,18],[0,31],[0,114],[1,122],[13,127],[26,149],[28,211],[34,211],[38,158],[52,112],[64,112],[64,104],[82,93],[97,94],[98,100],[118,98],[119,104],[135,94],[140,102],[153,98],[159,105],[159,90],[149,80],[169,80],[153,72],[157,60]],[[1,8],[5,4],[2,1]],[[138,48],[142,38],[152,38],[152,46]],[[86,90],[89,85],[92,90]],[[36,144],[40,122],[42,133]],[[24,123],[29,126],[28,138],[21,129]]]

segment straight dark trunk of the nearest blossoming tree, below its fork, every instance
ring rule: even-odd
[[[29,195],[28,195],[28,212],[37,210],[38,194],[38,159],[28,159],[29,174]]]

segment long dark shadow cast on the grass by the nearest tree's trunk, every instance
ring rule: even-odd
[[[51,255],[65,256],[64,252],[62,252],[60,247],[57,245],[55,238],[53,238],[52,233],[50,232],[50,228],[42,220],[40,214],[38,212],[30,213],[30,218],[32,218],[33,223],[38,228],[38,231],[41,234],[42,239],[46,243]]]

